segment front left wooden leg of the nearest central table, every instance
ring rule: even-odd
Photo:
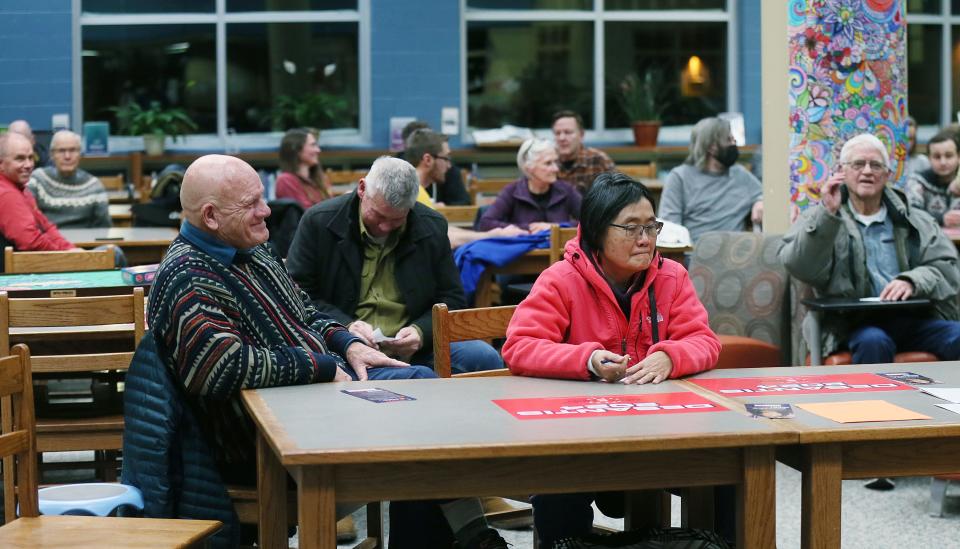
[[[303,467],[298,473],[300,549],[336,549],[337,502],[333,469]]]

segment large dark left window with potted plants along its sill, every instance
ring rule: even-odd
[[[112,107],[159,101],[210,143],[305,125],[356,142],[368,13],[369,0],[82,0],[75,108],[114,134]]]

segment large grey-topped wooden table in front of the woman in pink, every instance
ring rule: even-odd
[[[376,404],[341,392],[363,387],[416,400]],[[337,501],[719,484],[738,486],[738,547],[773,547],[773,445],[795,443],[795,433],[729,410],[521,420],[491,402],[654,393],[691,391],[676,381],[638,387],[521,377],[244,391],[258,428],[260,546],[286,547],[289,472],[303,549],[336,546]]]

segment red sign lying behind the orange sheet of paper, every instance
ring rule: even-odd
[[[870,393],[875,391],[913,391],[877,374],[830,374],[823,376],[738,377],[691,379],[692,383],[726,396],[763,394],[811,395],[823,393]]]

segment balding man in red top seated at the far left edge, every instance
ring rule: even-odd
[[[27,181],[33,173],[33,146],[13,132],[0,135],[0,244],[20,251],[76,249],[43,215]],[[2,267],[0,255],[0,267]]]

